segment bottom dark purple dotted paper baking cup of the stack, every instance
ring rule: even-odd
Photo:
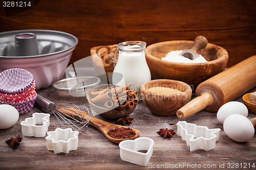
[[[7,104],[15,107],[18,110],[19,114],[25,114],[31,111],[34,106],[37,93],[35,92],[31,99],[19,102],[5,102],[1,101],[1,104]]]

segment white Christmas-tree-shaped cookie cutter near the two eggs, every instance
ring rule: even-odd
[[[220,128],[208,129],[206,126],[197,126],[189,124],[186,121],[177,123],[177,134],[186,140],[190,145],[190,152],[203,149],[209,151],[215,148],[216,142],[219,140]]]

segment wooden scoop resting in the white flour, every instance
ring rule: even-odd
[[[183,50],[181,56],[186,57],[190,60],[195,60],[199,55],[197,52],[206,47],[208,40],[206,37],[199,35],[194,41],[194,46],[188,50]]]

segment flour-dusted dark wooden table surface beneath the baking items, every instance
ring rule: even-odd
[[[249,92],[252,91],[256,91],[256,88]],[[38,90],[37,93],[55,103],[83,104],[89,107],[86,98],[63,98],[58,96],[52,87]],[[237,101],[242,102],[242,97]],[[158,169],[199,169],[199,166],[201,169],[255,169],[252,166],[256,166],[256,137],[249,142],[231,140],[225,135],[216,113],[201,111],[182,119],[187,123],[207,126],[209,129],[221,129],[220,139],[214,149],[190,152],[189,146],[181,136],[176,134],[169,139],[156,133],[161,128],[174,129],[177,132],[176,123],[179,119],[176,116],[157,116],[146,108],[143,101],[140,101],[136,110],[130,114],[134,120],[128,127],[139,130],[140,137],[150,137],[155,142],[153,155],[147,166],[121,160],[118,144],[108,140],[92,126],[79,136],[78,149],[70,151],[69,154],[54,154],[53,151],[48,151],[45,137],[22,136],[20,146],[13,150],[5,141],[10,137],[22,135],[20,122],[32,117],[34,112],[46,111],[35,105],[31,112],[20,115],[13,127],[0,130],[0,169],[148,169],[160,166],[162,167]],[[248,114],[248,118],[253,117],[256,115]],[[111,123],[116,121],[100,118]],[[60,125],[56,118],[51,115],[48,131],[54,131],[58,127]]]

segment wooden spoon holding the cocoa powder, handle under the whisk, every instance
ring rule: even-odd
[[[77,108],[74,108],[74,107],[72,107],[72,109],[77,111],[81,116],[89,118],[88,113],[83,112],[83,111],[80,112],[79,110],[77,110]],[[61,111],[63,112],[63,110],[61,110]],[[79,117],[77,114],[75,114],[75,112],[74,112],[74,114],[72,114],[70,112],[65,112],[65,114],[67,114],[67,115],[69,115],[69,116],[71,116],[71,117],[73,117],[73,118],[75,118],[77,120],[81,120],[81,117]],[[65,116],[65,114],[63,114],[63,115]],[[130,138],[125,138],[125,139],[113,138],[113,137],[108,135],[108,132],[109,132],[110,129],[115,129],[116,127],[118,127],[118,128],[121,128],[121,127],[127,128],[127,127],[121,126],[121,125],[116,125],[116,124],[111,124],[111,123],[105,122],[105,121],[103,121],[103,120],[101,120],[99,118],[96,118],[94,116],[91,116],[89,125],[92,125],[93,127],[95,127],[98,130],[100,130],[100,132],[102,132],[106,136],[106,138],[108,138],[110,141],[112,141],[114,143],[120,143],[121,141],[128,140],[128,139],[136,139],[140,135],[140,131],[131,128],[136,133],[135,136],[130,137]]]

